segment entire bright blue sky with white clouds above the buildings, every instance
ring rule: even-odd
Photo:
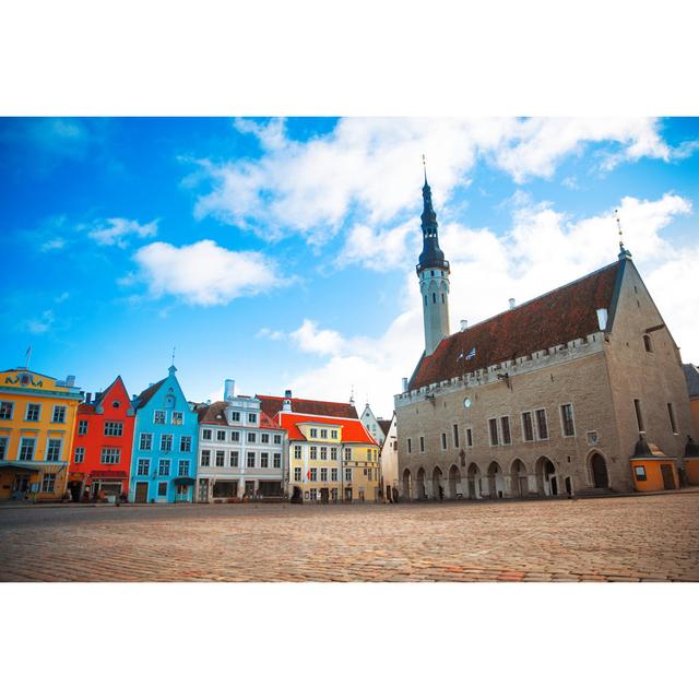
[[[1,364],[389,413],[422,351],[426,153],[452,331],[627,247],[699,360],[698,119],[0,119]]]

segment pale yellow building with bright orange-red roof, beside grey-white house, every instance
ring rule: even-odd
[[[289,495],[313,502],[377,502],[379,446],[359,419],[277,414],[289,443]]]

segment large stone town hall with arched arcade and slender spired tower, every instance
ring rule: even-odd
[[[630,491],[639,437],[682,469],[692,428],[679,351],[630,252],[450,334],[427,179],[423,199],[425,352],[395,396],[403,497]]]

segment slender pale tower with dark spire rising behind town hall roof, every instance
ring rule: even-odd
[[[435,352],[442,337],[449,335],[449,262],[439,249],[437,214],[433,209],[433,192],[423,186],[423,251],[416,266],[423,296],[425,321],[425,355]]]

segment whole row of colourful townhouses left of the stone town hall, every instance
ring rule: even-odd
[[[186,399],[171,366],[131,399],[121,380],[83,393],[29,371],[0,374],[0,499],[222,502],[383,497],[379,448],[354,402]]]

